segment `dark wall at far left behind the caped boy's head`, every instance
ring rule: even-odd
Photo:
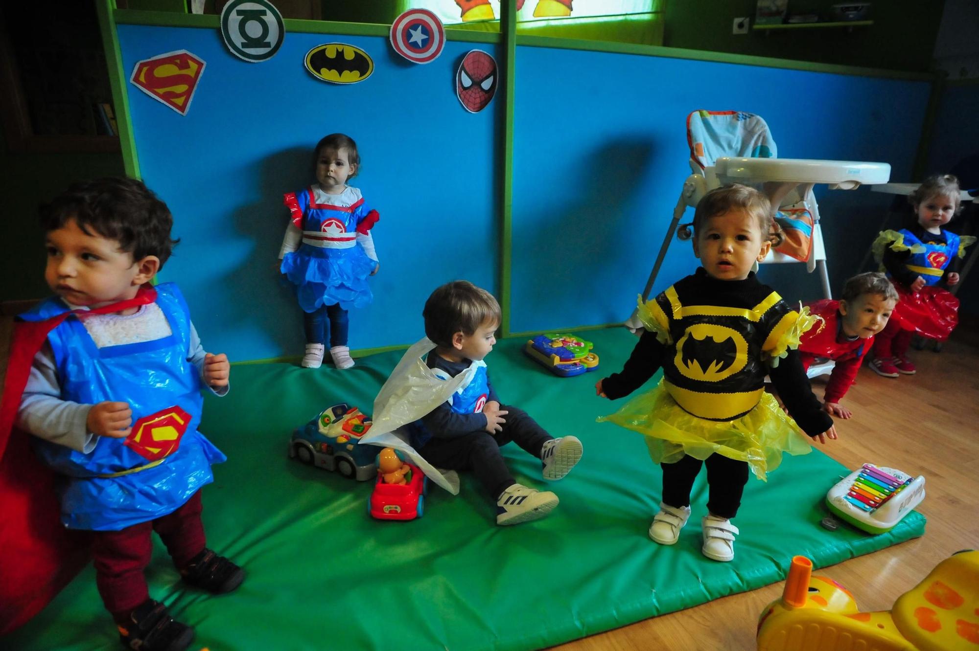
[[[10,152],[2,141],[0,166],[4,191],[0,193],[3,255],[0,255],[0,301],[44,298],[51,292],[44,282],[44,234],[37,226],[37,206],[72,182],[117,176],[122,171],[119,153]]]

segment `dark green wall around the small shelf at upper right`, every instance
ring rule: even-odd
[[[791,13],[820,13],[838,0],[790,0]],[[664,45],[690,50],[896,70],[931,69],[944,0],[878,0],[872,25],[789,28],[732,34],[735,18],[754,24],[756,0],[667,0]],[[793,89],[783,89],[792,92]],[[795,89],[802,90],[802,89]]]

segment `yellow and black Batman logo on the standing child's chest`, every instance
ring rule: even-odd
[[[691,325],[676,342],[676,369],[693,380],[720,382],[747,363],[748,342],[724,325]]]

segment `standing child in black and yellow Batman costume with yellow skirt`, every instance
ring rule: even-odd
[[[689,226],[680,239],[691,237]],[[822,443],[836,438],[794,350],[816,320],[792,310],[752,272],[768,254],[772,232],[769,199],[758,191],[733,185],[705,195],[692,234],[702,268],[654,300],[639,301],[645,325],[639,342],[622,372],[595,385],[598,395],[621,398],[663,368],[656,388],[599,421],[644,434],[663,469],[663,499],[649,529],[655,542],[678,540],[694,479],[706,464],[702,551],[718,561],[734,557],[738,529],[730,519],[749,469],[764,480],[782,453],[809,453],[803,432]],[[791,418],[765,392],[766,374]]]

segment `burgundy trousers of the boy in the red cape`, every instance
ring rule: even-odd
[[[125,620],[150,596],[143,571],[150,564],[153,532],[160,536],[178,569],[185,567],[204,549],[201,508],[201,492],[198,491],[183,506],[156,520],[120,531],[92,532],[95,583],[106,609],[117,622]]]

